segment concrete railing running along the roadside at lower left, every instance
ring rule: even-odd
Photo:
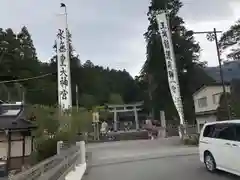
[[[75,167],[85,161],[85,150],[81,146],[85,146],[84,142],[76,144],[69,149],[62,150],[45,161],[33,166],[24,172],[16,174],[9,178],[10,180],[59,180],[64,179],[64,176]],[[85,147],[84,147],[85,148]],[[82,152],[83,151],[83,152]],[[84,153],[84,156],[83,154]]]

